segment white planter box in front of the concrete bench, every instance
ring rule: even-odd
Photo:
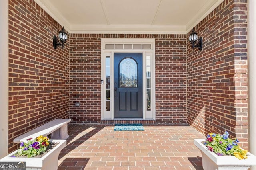
[[[4,158],[1,162],[26,162],[26,170],[57,170],[58,169],[58,156],[60,151],[66,146],[66,140],[50,140],[58,143],[54,148],[47,152],[41,158],[21,158],[11,157],[16,154],[14,151]]]

